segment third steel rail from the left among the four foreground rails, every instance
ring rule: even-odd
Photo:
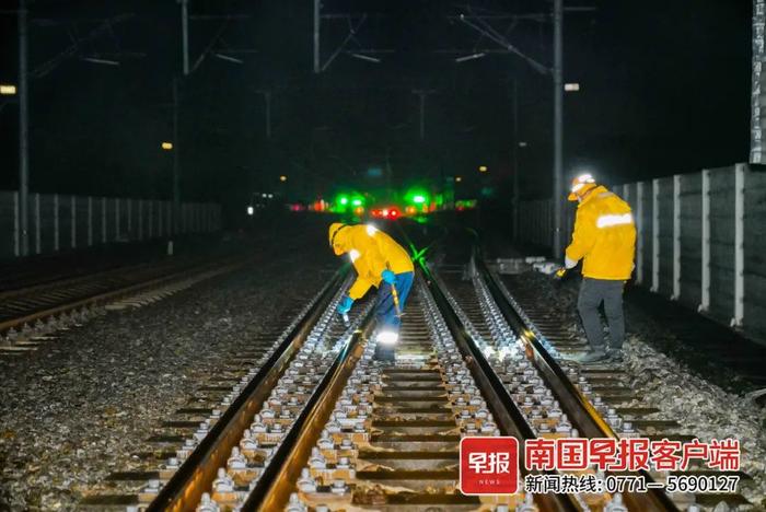
[[[423,275],[427,277],[428,288],[433,295],[433,299],[439,307],[444,321],[446,322],[450,333],[455,340],[455,345],[463,352],[466,364],[471,369],[477,387],[487,399],[487,405],[492,411],[492,416],[500,427],[500,431],[506,435],[512,435],[519,441],[535,439],[536,435],[530,424],[526,422],[524,415],[513,402],[513,397],[508,392],[508,388],[500,380],[498,374],[487,361],[487,358],[481,353],[481,350],[476,344],[471,341],[471,337],[466,331],[465,326],[461,322],[457,314],[450,305],[446,296],[442,292],[440,284],[434,276],[431,275],[428,267],[421,264]],[[530,472],[524,466],[524,451],[519,451],[520,472],[526,475]],[[554,472],[543,472],[544,474],[553,475]],[[577,504],[573,497],[569,494],[535,494],[535,502],[542,510],[556,511],[579,511],[581,508]]]

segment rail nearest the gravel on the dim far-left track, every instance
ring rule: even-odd
[[[220,264],[214,264],[214,265],[220,265]],[[234,261],[234,263],[227,264],[225,266],[220,268],[220,274],[223,274],[223,272],[227,272],[230,270],[234,270],[235,268],[237,268],[239,266],[242,266],[242,265],[244,265],[244,261]],[[162,277],[150,279],[148,281],[142,281],[142,282],[129,284],[126,287],[118,288],[116,290],[111,290],[107,292],[98,293],[96,295],[86,296],[84,299],[77,299],[72,302],[59,304],[57,306],[49,307],[47,310],[42,310],[42,311],[26,314],[26,315],[21,316],[21,317],[7,319],[3,322],[0,322],[0,334],[5,333],[5,331],[10,330],[11,328],[23,326],[24,324],[30,324],[30,323],[36,322],[38,319],[48,318],[50,316],[56,316],[56,315],[61,314],[61,313],[67,313],[67,312],[70,312],[72,310],[77,310],[78,307],[114,301],[116,299],[119,299],[119,298],[123,298],[123,296],[126,296],[126,295],[129,295],[132,293],[137,293],[140,291],[150,289],[150,288],[160,287],[160,286],[163,286],[163,284],[169,283],[171,281],[175,281],[175,280],[182,279],[184,277],[189,277],[190,272],[204,274],[206,271],[212,270],[212,268],[210,268],[212,266],[213,266],[213,264],[207,263],[207,264],[199,266],[196,269],[184,268],[184,269],[178,270],[177,272],[164,275]]]

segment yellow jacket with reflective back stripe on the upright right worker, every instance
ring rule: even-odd
[[[627,202],[597,186],[577,207],[567,258],[582,261],[582,275],[627,280],[636,252],[636,224]]]

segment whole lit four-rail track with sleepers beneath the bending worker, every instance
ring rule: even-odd
[[[126,493],[92,496],[83,507],[666,511],[689,504],[688,496],[657,489],[525,494],[522,486],[481,499],[459,492],[465,435],[617,439],[668,422],[643,420],[654,412],[649,407],[622,406],[635,393],[614,369],[562,362],[559,350],[571,347],[548,341],[481,264],[467,275],[425,272],[403,318],[395,362],[375,358],[370,302],[355,309],[349,325],[335,315],[348,287],[337,277],[276,342],[254,344],[205,407],[179,411],[194,418],[166,423],[175,435],[155,438],[164,443],[154,451],[165,461],[159,468],[114,475],[112,481],[127,482],[114,489]],[[520,473],[527,474],[523,466]]]

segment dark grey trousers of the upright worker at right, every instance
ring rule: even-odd
[[[577,309],[592,350],[604,350],[604,328],[601,325],[599,306],[604,303],[606,323],[610,326],[610,348],[619,350],[625,340],[625,316],[623,314],[623,289],[625,281],[582,278]]]

